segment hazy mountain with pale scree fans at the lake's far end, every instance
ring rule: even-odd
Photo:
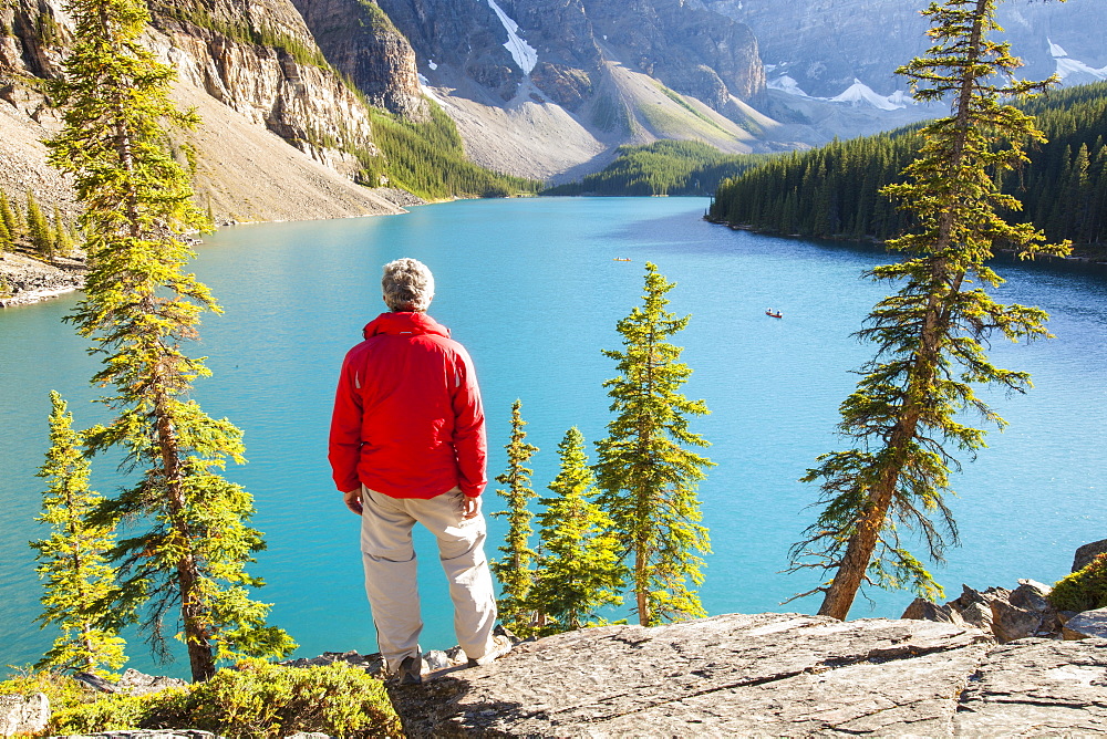
[[[325,17],[317,3],[334,0],[297,1],[311,24]],[[425,91],[457,123],[468,154],[540,179],[597,171],[622,144],[676,138],[728,153],[768,152],[925,115],[817,101],[805,101],[803,112],[766,115],[775,93],[766,90],[758,39],[699,1],[379,0],[374,7],[411,42]],[[321,35],[324,24],[311,28]]]

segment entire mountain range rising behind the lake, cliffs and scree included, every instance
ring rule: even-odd
[[[624,144],[693,139],[775,152],[892,128],[913,104],[896,66],[928,44],[903,0],[152,0],[149,44],[179,70],[198,188],[237,220],[395,212],[353,185],[381,156],[372,108],[439,106],[494,170],[566,181]],[[1107,77],[1107,0],[1008,0],[1000,22],[1026,75]],[[0,8],[0,188],[59,192],[35,165],[56,127],[34,77],[60,74],[60,0]],[[373,181],[371,185],[387,183]],[[278,192],[270,197],[263,190]],[[46,201],[50,198],[48,196]]]

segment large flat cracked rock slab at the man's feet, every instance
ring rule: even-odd
[[[408,737],[951,736],[975,628],[734,614],[604,626],[393,688]]]

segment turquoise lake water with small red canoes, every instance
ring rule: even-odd
[[[226,313],[209,315],[203,341],[214,377],[196,396],[213,416],[246,431],[249,464],[229,476],[254,493],[255,524],[269,549],[251,571],[275,603],[272,623],[300,643],[299,656],[375,650],[362,591],[358,519],[342,506],[327,465],[327,429],[343,354],[383,311],[380,269],[397,257],[426,262],[437,281],[431,315],[474,357],[488,415],[489,475],[505,465],[510,405],[523,400],[540,493],[556,473],[556,447],[578,426],[601,438],[615,375],[603,348],[620,348],[615,322],[640,302],[644,263],[677,287],[670,310],[692,314],[674,343],[694,374],[685,394],[711,415],[693,430],[717,464],[700,487],[712,553],[701,590],[711,614],[814,612],[816,599],[779,603],[811,586],[787,575],[788,547],[815,510],[817,489],[797,480],[816,456],[840,448],[838,404],[871,354],[851,333],[887,285],[861,272],[889,261],[876,249],[757,236],[701,219],[705,199],[470,200],[403,216],[242,226],[207,237],[195,271]],[[625,258],[631,261],[614,261]],[[962,583],[1013,587],[1052,583],[1074,550],[1107,537],[1107,272],[1000,264],[1004,302],[1039,305],[1056,339],[997,341],[1000,366],[1026,370],[1027,395],[987,397],[1011,426],[965,462],[950,501],[962,547],[934,569],[954,597]],[[46,394],[69,400],[76,424],[105,418],[89,377],[96,360],[61,323],[75,295],[0,312],[0,665],[33,662],[54,638],[33,623],[41,589],[27,542],[46,448]],[[765,315],[768,308],[784,318]],[[106,460],[105,460],[106,461]],[[118,485],[99,464],[93,485]],[[489,488],[485,511],[500,510]],[[506,523],[490,521],[492,548]],[[915,550],[919,551],[919,550]],[[428,537],[418,540],[424,648],[455,644],[445,581]],[[496,556],[495,551],[489,552]],[[869,591],[851,617],[898,616],[911,595]],[[131,666],[157,666],[131,639]]]

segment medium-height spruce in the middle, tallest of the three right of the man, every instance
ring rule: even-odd
[[[614,521],[621,554],[633,562],[634,611],[643,626],[705,615],[694,590],[703,583],[699,554],[710,551],[696,485],[713,462],[687,448],[708,446],[687,419],[707,406],[677,392],[692,370],[666,340],[691,316],[665,310],[674,287],[646,263],[642,306],[617,326],[625,351],[603,352],[622,374],[603,383],[615,417],[596,445],[599,504]]]

